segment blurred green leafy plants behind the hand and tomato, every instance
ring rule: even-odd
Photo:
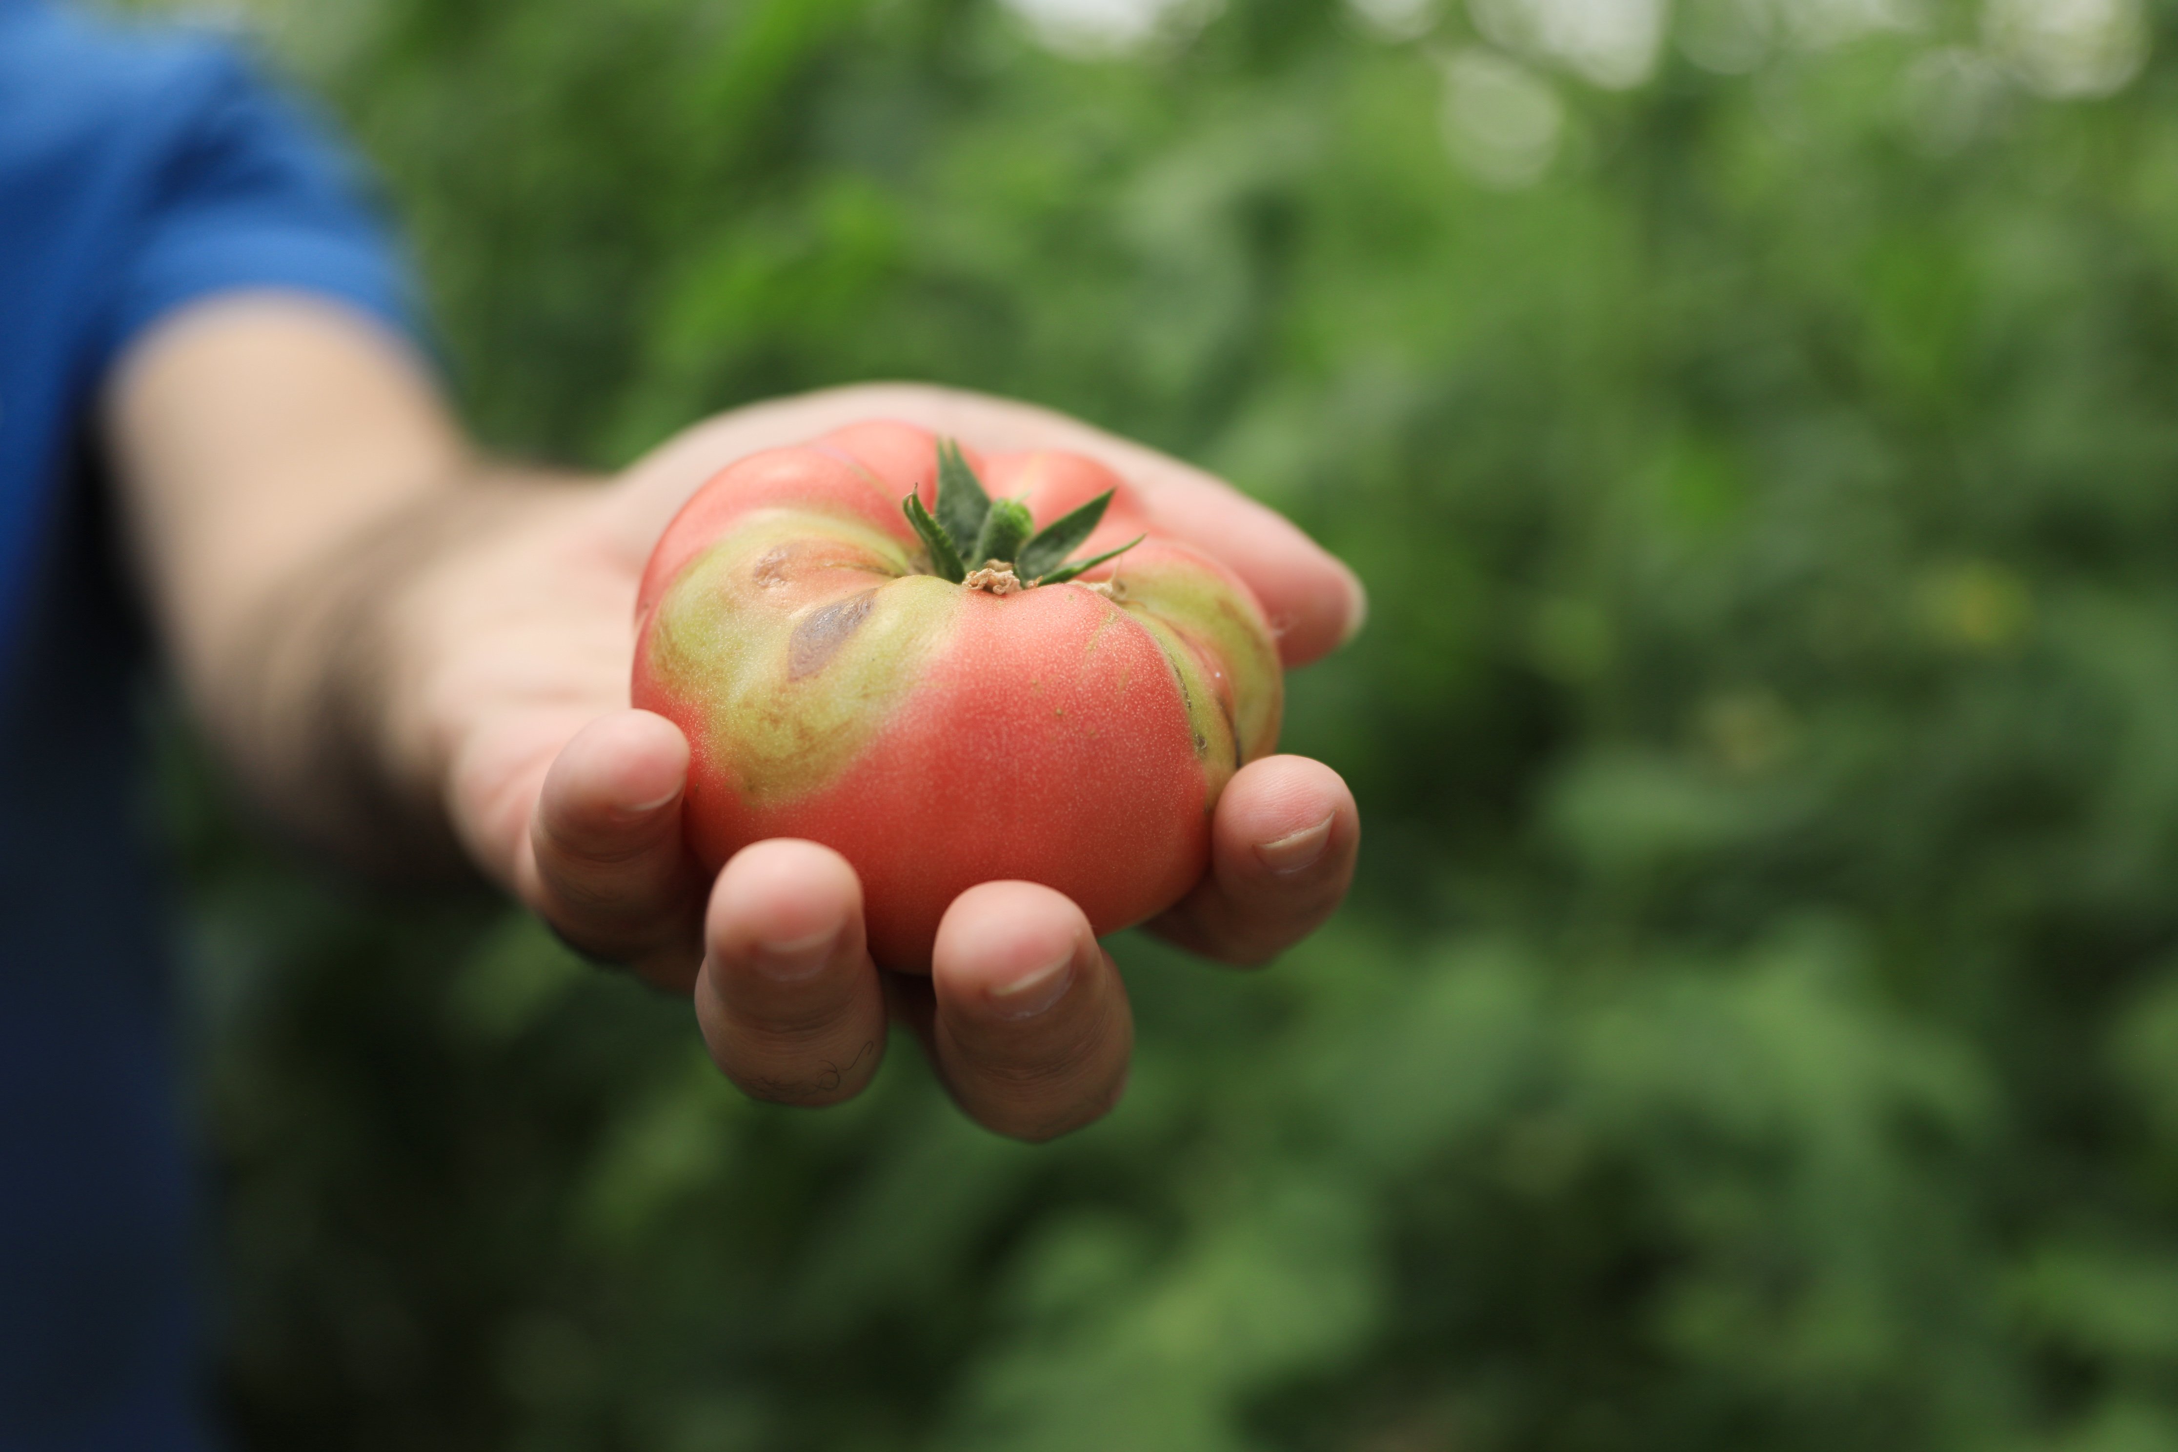
[[[497,446],[865,377],[1344,553],[1368,816],[1043,1149],[185,751],[246,1448],[2178,1448],[2178,9],[261,0]]]

